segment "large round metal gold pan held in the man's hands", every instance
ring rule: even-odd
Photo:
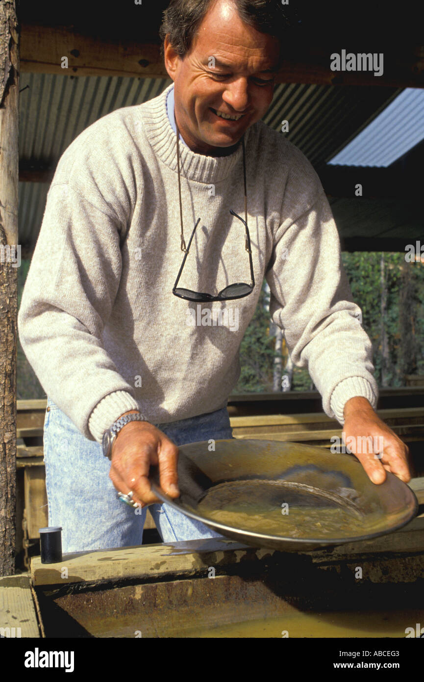
[[[162,502],[213,531],[256,547],[306,551],[378,537],[417,514],[414,493],[392,473],[377,486],[352,455],[299,443],[229,439],[179,447],[179,489]]]

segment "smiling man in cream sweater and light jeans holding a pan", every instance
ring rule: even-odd
[[[162,26],[174,87],[96,121],[57,166],[18,323],[48,394],[49,524],[65,551],[140,544],[146,505],[165,541],[217,535],[157,504],[149,467],[176,498],[177,445],[231,437],[226,402],[264,276],[326,413],[346,437],[383,437],[384,453],[357,455],[369,477],[410,479],[406,446],[374,411],[372,346],[320,181],[260,121],[280,60],[277,5],[174,0]],[[219,291],[229,299],[196,303]],[[198,325],[198,306],[239,324]]]

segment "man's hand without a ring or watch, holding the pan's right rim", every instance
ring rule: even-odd
[[[373,483],[384,483],[386,471],[405,483],[410,481],[408,446],[384,424],[366,398],[350,398],[344,406],[344,419],[346,446],[359,459]],[[369,436],[373,445],[361,452],[364,443],[371,443]]]

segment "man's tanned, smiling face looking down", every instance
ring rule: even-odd
[[[175,118],[185,143],[197,153],[228,153],[226,148],[237,144],[271,104],[277,39],[243,23],[231,0],[217,0],[200,23],[189,52],[179,57],[166,38],[164,53],[175,83]]]

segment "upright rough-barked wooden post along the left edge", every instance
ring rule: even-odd
[[[0,576],[14,574],[18,247],[18,21],[0,0]]]

